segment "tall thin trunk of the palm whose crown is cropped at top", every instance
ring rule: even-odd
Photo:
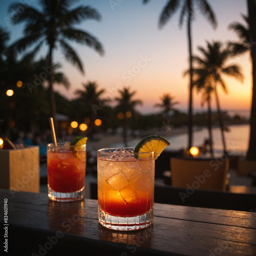
[[[192,89],[193,89],[193,67],[192,67],[192,42],[191,42],[191,12],[189,11],[187,23],[188,49],[189,49],[189,109],[188,109],[188,149],[193,143],[193,113],[192,113]]]

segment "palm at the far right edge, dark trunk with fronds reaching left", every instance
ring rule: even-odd
[[[237,33],[239,42],[230,42],[229,45],[234,54],[242,54],[250,51],[252,61],[252,101],[250,116],[250,139],[247,151],[247,160],[256,159],[256,4],[255,1],[247,0],[248,16],[243,15],[246,25],[232,23],[229,29]]]

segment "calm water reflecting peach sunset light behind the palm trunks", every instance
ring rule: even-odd
[[[250,125],[229,125],[228,128],[229,131],[224,132],[227,151],[229,152],[230,155],[232,154],[245,156],[249,146]],[[186,148],[187,146],[187,133],[164,137],[170,142],[170,145],[166,148],[166,151],[181,150],[183,148]],[[208,130],[206,127],[194,131],[193,146],[201,146],[206,138],[208,138]],[[219,127],[215,127],[212,129],[212,140],[214,141],[213,148],[215,157],[221,156],[223,154],[223,144],[221,138],[221,131]],[[129,146],[135,147],[139,141],[139,139],[131,140],[129,141]],[[123,144],[118,143],[113,144],[111,146],[122,147]]]

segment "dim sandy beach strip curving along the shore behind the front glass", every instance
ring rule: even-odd
[[[187,133],[187,127],[172,127],[169,130],[164,127],[164,129],[161,130],[151,130],[147,131],[139,136],[127,136],[127,141],[131,140],[140,140],[148,135],[159,135],[162,137],[170,137],[170,136],[176,136],[180,134]],[[106,148],[111,147],[111,145],[123,143],[123,137],[121,134],[102,134],[98,136],[97,141],[88,141],[88,144],[92,146],[93,150],[98,150],[99,148]]]

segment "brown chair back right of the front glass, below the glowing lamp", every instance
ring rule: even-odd
[[[170,167],[174,187],[226,190],[229,159],[171,158]]]

